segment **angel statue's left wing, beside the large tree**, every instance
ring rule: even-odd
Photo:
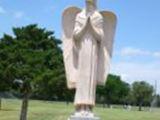
[[[67,76],[68,88],[75,88],[77,69],[76,52],[73,48],[73,30],[75,25],[75,19],[77,14],[81,12],[81,9],[76,7],[69,7],[63,13],[62,26],[63,26],[63,58],[65,64],[65,71]],[[74,64],[75,63],[75,64]]]

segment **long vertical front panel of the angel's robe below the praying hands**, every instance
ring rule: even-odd
[[[98,42],[90,28],[80,39],[75,104],[94,105],[97,85]]]

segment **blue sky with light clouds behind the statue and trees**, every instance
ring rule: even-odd
[[[147,81],[160,93],[160,0],[98,0],[117,15],[111,73],[126,82]],[[0,37],[12,27],[38,24],[61,38],[62,12],[85,0],[0,0]],[[155,82],[156,81],[156,82]]]

